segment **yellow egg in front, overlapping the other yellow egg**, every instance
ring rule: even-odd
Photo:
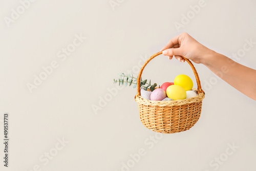
[[[186,91],[181,86],[172,85],[166,89],[168,98],[173,100],[182,100],[186,98]]]

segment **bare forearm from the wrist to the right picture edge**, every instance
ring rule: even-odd
[[[256,100],[256,70],[214,51],[202,63],[233,88]]]

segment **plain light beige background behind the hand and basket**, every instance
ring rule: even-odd
[[[9,168],[1,159],[1,170],[254,170],[256,102],[205,66],[195,65],[206,91],[198,123],[183,133],[158,135],[159,140],[150,140],[156,134],[139,120],[136,90],[126,87],[109,96],[108,89],[116,88],[118,73],[137,75],[143,58],[182,32],[230,58],[242,52],[246,39],[256,42],[256,2],[205,0],[179,31],[174,23],[199,1],[113,0],[114,9],[110,2],[37,0],[10,27],[4,18],[21,4],[0,3],[0,119],[4,112],[10,115]],[[87,39],[61,61],[57,53],[76,34]],[[256,69],[255,55],[253,45],[237,61]],[[52,61],[58,68],[30,93],[27,83]],[[162,55],[148,63],[142,77],[161,84],[178,74],[196,85],[187,63]],[[109,101],[94,112],[106,96]],[[3,137],[3,120],[0,126]],[[67,141],[60,150],[58,139]],[[232,152],[228,144],[239,147]],[[1,143],[1,158],[3,148]],[[132,163],[140,148],[146,154]],[[40,160],[47,153],[54,154],[48,163]],[[216,164],[220,157],[225,161]],[[127,162],[133,167],[121,168]]]

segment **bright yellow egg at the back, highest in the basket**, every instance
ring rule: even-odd
[[[181,86],[185,91],[191,90],[193,88],[193,81],[187,75],[180,74],[174,79],[174,84]]]

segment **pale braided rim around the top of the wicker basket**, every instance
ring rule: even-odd
[[[201,102],[204,99],[204,97],[205,97],[205,94],[201,92],[196,97],[190,97],[183,100],[157,101],[157,100],[147,100],[141,97],[141,95],[138,95],[138,96],[135,96],[135,101],[137,101],[139,104],[144,104],[144,105],[174,106],[174,105],[198,103],[198,102]]]

